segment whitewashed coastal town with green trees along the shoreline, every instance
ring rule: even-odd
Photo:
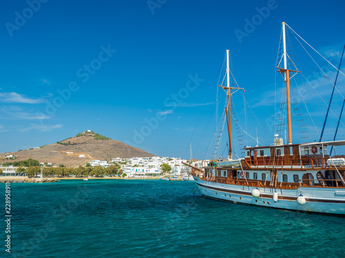
[[[30,177],[30,168],[36,168],[37,173],[34,176],[43,177],[48,175],[44,171],[51,171],[54,168],[65,169],[68,173],[66,176],[94,176],[92,171],[97,169],[103,169],[104,171],[111,171],[110,176],[118,176],[121,178],[154,178],[162,175],[171,175],[181,177],[188,175],[188,168],[183,163],[188,162],[192,166],[202,167],[210,160],[183,160],[181,158],[168,158],[168,157],[150,157],[150,158],[112,158],[110,162],[107,160],[91,160],[83,166],[77,166],[75,168],[66,168],[63,164],[53,164],[51,162],[38,164],[37,160],[32,160],[32,164],[28,162],[10,162],[14,158],[12,155],[6,157],[6,161],[0,163],[0,176],[21,176]],[[76,173],[79,169],[79,173]],[[85,170],[86,173],[80,173],[80,170]],[[101,174],[101,173],[99,173]],[[109,175],[109,174],[107,174]]]

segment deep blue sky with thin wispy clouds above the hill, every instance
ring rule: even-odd
[[[234,94],[239,122],[269,145],[283,85],[275,72],[280,24],[286,21],[337,67],[345,43],[344,7],[344,1],[3,1],[0,151],[39,147],[92,129],[170,157],[189,158],[191,142],[195,158],[210,158],[226,49],[250,107],[244,109],[242,92]],[[308,135],[318,140],[315,127],[322,129],[333,86],[289,35],[297,67],[315,89],[295,77],[308,107],[301,105]],[[335,80],[336,69],[306,49]],[[342,85],[344,77],[339,74]],[[333,140],[342,85],[324,140]],[[295,118],[293,123],[293,142],[301,142]],[[341,124],[337,139],[344,136]],[[247,137],[246,144],[255,141]]]

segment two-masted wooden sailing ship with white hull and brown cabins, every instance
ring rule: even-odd
[[[266,147],[245,147],[245,156],[233,160],[231,149],[231,90],[229,66],[227,85],[222,87],[228,96],[226,117],[229,137],[229,160],[210,162],[200,169],[191,166],[192,175],[202,195],[234,203],[253,204],[296,211],[345,215],[345,155],[331,158],[327,147],[345,145],[345,140],[331,142],[292,143],[290,114],[290,70],[286,65],[285,23],[282,23],[284,75],[288,144],[275,138]],[[227,64],[229,63],[227,50]]]

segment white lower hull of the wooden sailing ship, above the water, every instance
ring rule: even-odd
[[[197,177],[194,180],[205,197],[270,208],[345,215],[345,189],[303,186],[299,189],[277,189],[278,199],[275,202],[274,189],[258,188],[260,196],[253,197],[252,192],[257,187],[208,182]],[[301,194],[305,204],[297,202]]]

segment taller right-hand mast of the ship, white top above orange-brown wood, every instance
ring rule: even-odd
[[[287,54],[286,54],[286,35],[285,35],[285,22],[282,23],[283,26],[283,58],[284,58],[284,69],[278,68],[278,72],[284,73],[284,80],[286,81],[286,109],[288,112],[288,144],[293,143],[293,136],[291,133],[291,107],[290,107],[290,72],[299,72],[299,71],[293,71],[289,70],[287,68]]]

